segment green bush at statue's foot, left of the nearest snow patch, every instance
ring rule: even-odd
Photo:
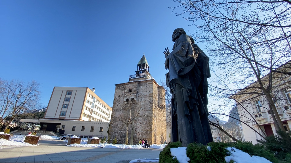
[[[159,155],[159,163],[179,163],[177,158],[171,155],[170,148],[182,147],[181,142],[171,142],[169,143]]]

